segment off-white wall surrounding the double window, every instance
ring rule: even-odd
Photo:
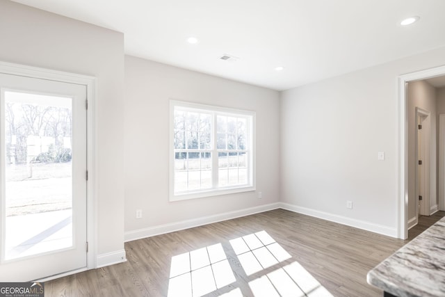
[[[246,192],[169,202],[169,99],[257,113],[257,191],[263,194],[261,200],[257,193]],[[213,216],[210,220],[218,219],[220,214],[278,202],[278,92],[126,56],[125,104],[127,240],[206,223],[209,216]],[[143,218],[136,219],[136,209],[143,210]],[[190,224],[179,223],[184,221]]]

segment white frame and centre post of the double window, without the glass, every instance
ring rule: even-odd
[[[212,147],[211,147],[211,158],[212,158],[212,178],[213,178],[213,186],[208,189],[197,189],[190,190],[182,193],[175,194],[175,134],[174,134],[174,120],[175,120],[175,107],[181,107],[184,109],[194,109],[197,112],[202,113],[211,113],[212,114]],[[224,186],[218,187],[218,150],[216,147],[216,115],[232,115],[238,117],[246,117],[250,119],[250,124],[248,125],[248,184],[245,185],[234,185],[234,186]],[[206,104],[197,104],[191,102],[184,102],[179,100],[170,99],[170,141],[169,141],[169,150],[170,150],[170,201],[180,201],[180,200],[188,200],[195,198],[205,198],[216,195],[227,195],[233,193],[243,193],[248,191],[255,191],[255,120],[256,114],[254,111],[244,111],[239,109],[229,109],[225,107],[219,106],[211,106]]]

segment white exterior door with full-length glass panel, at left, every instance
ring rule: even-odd
[[[1,282],[87,266],[86,86],[0,74]]]

